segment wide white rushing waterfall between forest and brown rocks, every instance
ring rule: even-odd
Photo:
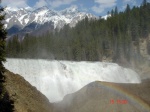
[[[60,101],[93,81],[141,82],[136,72],[115,63],[7,59],[4,66],[23,76],[50,102]]]

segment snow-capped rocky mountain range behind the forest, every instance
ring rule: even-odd
[[[29,7],[20,9],[7,7],[5,12],[5,27],[8,29],[9,34],[30,33],[41,27],[43,28],[43,25],[50,29],[60,29],[65,24],[74,27],[78,21],[85,17],[97,18],[92,14],[80,12],[75,6],[61,11],[51,10],[47,6],[35,10]]]

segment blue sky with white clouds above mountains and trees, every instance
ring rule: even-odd
[[[116,6],[118,10],[124,10],[129,4],[139,6],[143,0],[2,0],[3,6],[32,7],[48,6],[50,9],[63,10],[70,6],[76,6],[80,11],[89,12],[97,16],[104,16]],[[150,1],[150,0],[147,0]]]

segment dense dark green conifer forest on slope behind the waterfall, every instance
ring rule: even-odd
[[[139,40],[148,38],[150,32],[150,3],[143,1],[140,7],[132,9],[127,5],[124,12],[108,12],[111,17],[88,19],[70,28],[47,32],[40,37],[26,35],[23,40],[17,36],[7,43],[7,57],[46,58],[58,60],[130,61],[141,58]],[[133,45],[138,49],[134,52]],[[150,45],[148,44],[150,54]]]

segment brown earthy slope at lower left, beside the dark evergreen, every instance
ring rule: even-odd
[[[52,112],[52,104],[23,77],[5,72],[5,88],[14,100],[15,112]]]

